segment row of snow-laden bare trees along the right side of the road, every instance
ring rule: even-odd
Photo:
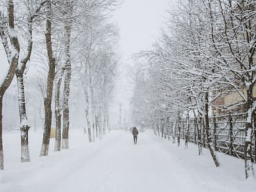
[[[135,55],[138,69],[132,99],[134,119],[144,125],[159,128],[171,126],[170,122],[183,116],[204,118],[207,146],[215,165],[219,166],[209,130],[209,107],[221,96],[238,93],[242,101],[236,107],[244,105],[247,112],[246,178],[254,176],[255,8],[255,0],[177,3],[168,11],[161,38],[151,50]],[[226,110],[232,108],[226,107]],[[200,133],[201,130],[197,130],[199,138]],[[201,142],[198,148],[200,155]]]

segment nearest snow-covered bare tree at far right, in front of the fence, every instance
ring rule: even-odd
[[[221,84],[240,94],[247,113],[244,143],[246,178],[254,176],[252,137],[255,131],[253,119],[256,111],[253,90],[255,78],[255,7],[249,1],[211,1],[208,10],[211,18],[213,64],[223,77]],[[222,38],[219,38],[221,36]],[[230,74],[230,75],[226,75]],[[243,91],[245,89],[245,91]]]

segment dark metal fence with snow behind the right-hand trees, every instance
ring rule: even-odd
[[[188,122],[188,123],[187,123]],[[196,126],[201,127],[201,142],[206,147],[207,138],[205,135],[204,119],[181,119],[180,120],[180,138],[185,139],[186,129],[188,126],[188,141],[197,143],[197,129]],[[244,158],[244,141],[246,139],[245,133],[246,114],[240,113],[235,115],[221,115],[210,118],[210,132],[215,151],[223,152],[238,158]],[[173,133],[171,132],[171,135]],[[177,137],[178,126],[176,124],[174,134]],[[256,162],[256,132],[254,133],[252,150],[254,160]]]

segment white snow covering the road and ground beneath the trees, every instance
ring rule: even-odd
[[[103,140],[87,142],[82,130],[71,132],[71,149],[38,157],[41,134],[30,134],[32,162],[20,163],[18,132],[5,133],[5,170],[0,191],[254,191],[256,180],[244,180],[243,160],[218,154],[215,165],[204,149],[177,147],[151,131],[140,133],[138,144],[130,132],[112,131]]]

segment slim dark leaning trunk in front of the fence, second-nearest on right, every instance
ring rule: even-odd
[[[206,132],[206,137],[207,137],[207,147],[210,151],[210,154],[212,155],[213,162],[215,163],[215,166],[219,166],[219,161],[218,158],[215,154],[215,151],[213,149],[213,143],[212,143],[212,138],[211,138],[211,133],[210,133],[210,124],[209,124],[209,116],[208,116],[208,92],[205,93],[205,132]]]

